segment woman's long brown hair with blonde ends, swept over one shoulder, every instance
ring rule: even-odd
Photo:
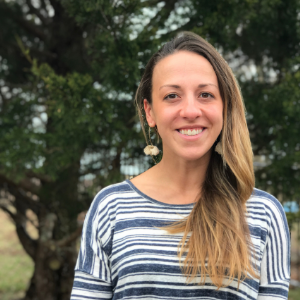
[[[200,284],[204,284],[209,276],[219,289],[234,279],[239,284],[249,277],[258,278],[245,204],[254,188],[253,154],[242,95],[230,67],[211,44],[191,32],[182,32],[166,43],[145,68],[135,97],[144,134],[147,122],[143,100],[152,103],[154,67],[180,50],[203,56],[216,73],[224,107],[218,140],[226,166],[221,156],[212,151],[201,195],[190,215],[165,229],[169,233],[184,233],[178,256],[188,281],[200,275]],[[148,139],[147,134],[145,138]]]

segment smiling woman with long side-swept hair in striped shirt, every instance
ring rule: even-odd
[[[243,101],[225,60],[181,33],[150,59],[136,104],[163,156],[95,197],[72,299],[287,299],[285,214],[254,188]]]

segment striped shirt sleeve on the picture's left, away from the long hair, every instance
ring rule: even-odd
[[[105,211],[98,200],[92,203],[83,224],[71,300],[112,299],[110,260],[105,251],[109,220],[103,217]]]

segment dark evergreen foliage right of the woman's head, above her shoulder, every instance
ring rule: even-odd
[[[195,0],[193,4],[199,10],[186,26],[193,24],[235,64],[254,155],[265,157],[266,162],[257,170],[258,186],[284,200],[299,199],[300,2],[212,1],[205,5]],[[218,18],[212,18],[213,14]]]

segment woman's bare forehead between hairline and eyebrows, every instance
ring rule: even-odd
[[[152,77],[153,88],[164,84],[214,84],[218,86],[216,73],[203,56],[190,51],[178,51],[160,60]]]

